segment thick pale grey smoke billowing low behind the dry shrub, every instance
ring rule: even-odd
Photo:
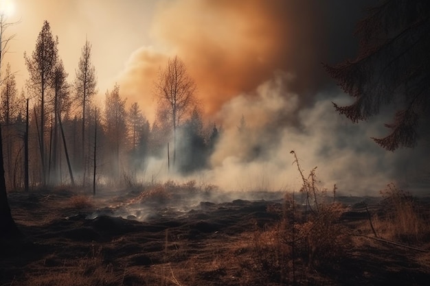
[[[299,110],[300,96],[288,91],[292,80],[275,73],[254,94],[234,97],[223,106],[217,114],[223,132],[206,178],[229,190],[297,191],[301,180],[290,154],[294,150],[305,174],[317,167],[329,190],[337,184],[346,195],[378,195],[396,182],[419,191],[418,182],[425,181],[428,170],[424,142],[414,150],[387,152],[370,137],[383,136],[389,119],[351,123],[332,107],[332,102],[348,103],[341,91],[318,94],[312,106]],[[245,128],[239,130],[242,116]]]

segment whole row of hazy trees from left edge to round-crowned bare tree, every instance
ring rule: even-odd
[[[34,51],[24,54],[29,78],[21,91],[7,65],[0,123],[8,189],[135,180],[150,157],[183,174],[207,166],[218,130],[203,123],[194,81],[179,58],[159,73],[157,119],[151,124],[137,102],[126,104],[117,84],[106,91],[103,107],[94,104],[91,52],[87,40],[69,80],[58,37],[45,21]]]

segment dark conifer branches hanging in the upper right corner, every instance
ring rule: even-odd
[[[336,110],[357,123],[394,104],[394,119],[385,124],[390,133],[373,139],[389,151],[414,147],[418,128],[429,119],[430,1],[383,1],[368,10],[355,34],[357,58],[334,67],[324,65],[355,99],[349,106],[335,104]]]

